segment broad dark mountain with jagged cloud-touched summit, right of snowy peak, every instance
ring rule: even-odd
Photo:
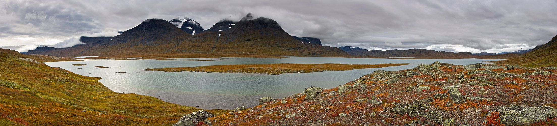
[[[228,24],[234,25],[232,27],[221,27]],[[215,31],[219,28],[224,29]],[[315,40],[312,39],[312,42]],[[241,53],[275,56],[350,56],[339,48],[300,41],[286,33],[276,21],[263,17],[253,19],[252,14],[247,14],[246,17],[236,23],[223,20],[206,32],[195,34],[183,41],[169,52]]]

